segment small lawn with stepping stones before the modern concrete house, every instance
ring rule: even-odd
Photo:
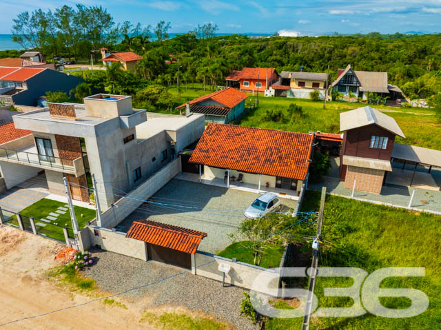
[[[41,218],[45,218],[49,216],[49,214],[55,213],[58,207],[64,207],[66,203],[61,203],[57,200],[43,198],[39,200],[37,203],[34,203],[25,209],[21,210],[20,214],[23,216],[32,217],[35,219],[35,224],[42,223],[45,224],[45,227],[37,227],[37,231],[39,234],[44,234],[50,238],[54,238],[56,240],[64,241],[64,234],[62,227],[68,227],[69,236],[74,237],[74,233],[72,231],[72,221],[70,219],[70,212],[67,211],[65,214],[60,214],[57,217],[57,220],[52,220],[51,223],[57,223],[58,225],[50,225],[48,223],[44,223],[43,221],[39,221]],[[78,221],[78,226],[80,229],[85,227],[85,223],[91,221],[95,218],[95,210],[87,209],[85,207],[74,206],[76,220]],[[13,216],[15,217],[15,216]],[[17,225],[17,219],[12,221],[12,225]]]

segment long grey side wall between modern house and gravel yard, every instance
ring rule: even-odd
[[[181,172],[181,159],[177,158],[148,178],[147,181],[134,189],[134,191],[125,196],[125,198],[118,200],[114,204],[115,206],[107,209],[107,211],[101,215],[102,220],[99,225],[105,228],[116,227],[116,225],[127,218],[127,216],[143,203],[142,200],[150,198],[150,196],[172,180],[179,172]]]

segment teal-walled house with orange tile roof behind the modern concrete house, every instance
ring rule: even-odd
[[[205,115],[205,123],[227,124],[243,115],[247,97],[247,94],[229,87],[198,97],[176,109],[184,110],[188,105],[189,112]]]

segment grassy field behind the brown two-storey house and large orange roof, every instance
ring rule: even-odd
[[[178,103],[182,104],[198,96],[209,94],[207,87],[205,92],[200,83],[195,84],[195,89],[185,90],[181,87],[181,99]],[[170,92],[177,96],[176,87],[172,87]],[[246,104],[254,103],[256,96],[249,96]],[[296,103],[301,105],[305,116],[294,122],[280,123],[275,121],[265,121],[265,112],[274,107],[286,109],[289,104]],[[275,130],[287,130],[291,132],[320,131],[328,133],[339,133],[340,131],[340,112],[353,110],[357,107],[364,107],[365,103],[345,103],[340,101],[327,102],[326,109],[323,103],[314,102],[307,99],[287,99],[286,97],[264,97],[259,96],[259,107],[251,110],[238,124],[250,127],[270,128]],[[395,118],[400,125],[406,138],[397,136],[396,141],[409,145],[418,145],[441,150],[441,124],[436,121],[433,111],[420,108],[404,107],[385,107],[383,105],[370,105],[385,114]]]

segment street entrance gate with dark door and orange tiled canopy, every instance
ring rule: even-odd
[[[192,255],[207,234],[150,220],[134,221],[126,237],[145,242],[148,260],[192,269]]]

